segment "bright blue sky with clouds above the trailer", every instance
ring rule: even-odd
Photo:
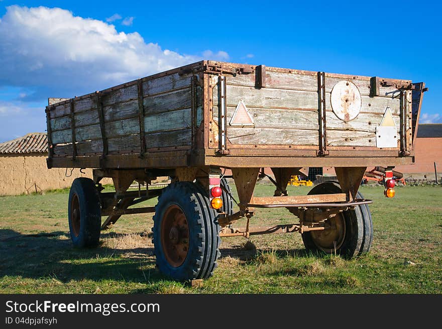
[[[424,81],[421,123],[442,123],[441,10],[431,1],[0,0],[0,142],[45,131],[47,97],[200,59]]]

